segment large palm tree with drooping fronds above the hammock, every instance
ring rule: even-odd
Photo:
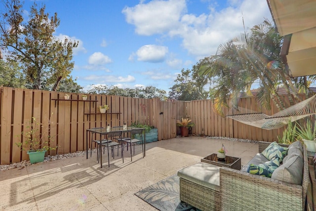
[[[283,38],[274,26],[265,20],[248,33],[221,44],[217,54],[208,58],[211,62],[200,67],[200,74],[217,78],[214,108],[219,114],[223,114],[223,106],[229,107],[230,99],[233,109],[237,109],[240,92],[249,93],[256,81],[259,82],[256,99],[268,110],[271,109],[271,100],[279,110],[285,108],[277,93],[280,84],[288,93],[290,105],[295,104],[292,99],[299,102],[296,93],[299,87],[306,87],[307,83],[297,83],[302,77],[291,78],[286,71],[279,57],[282,42]]]

